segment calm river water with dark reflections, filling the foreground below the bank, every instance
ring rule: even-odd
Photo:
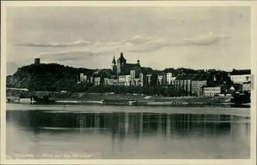
[[[249,109],[7,104],[6,154],[12,159],[78,158],[74,154],[80,159],[248,159],[247,113]]]

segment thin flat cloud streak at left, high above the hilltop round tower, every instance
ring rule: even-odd
[[[23,46],[23,47],[72,47],[72,46],[88,46],[91,43],[80,39],[77,40],[76,42],[72,42],[72,43],[66,43],[66,44],[61,44],[61,43],[40,43],[40,44],[36,44],[36,43],[27,43],[27,44],[14,44],[15,46]]]

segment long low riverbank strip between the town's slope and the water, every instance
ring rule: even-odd
[[[24,93],[24,92],[23,92]],[[31,93],[31,92],[30,92]],[[148,96],[139,94],[110,94],[110,93],[62,93],[62,92],[48,92],[39,91],[32,92],[34,95],[44,96],[47,95],[49,100],[55,101],[55,104],[61,105],[92,105],[102,104],[101,100],[104,101],[103,105],[126,105],[131,99],[138,101],[138,106],[223,106],[223,107],[250,107],[250,104],[246,105],[235,105],[230,102],[230,97],[196,97],[196,96],[183,96],[183,97],[161,97],[161,96]],[[7,92],[7,100],[9,102],[19,101],[19,97],[8,96],[11,93]],[[13,94],[13,93],[12,93]],[[18,94],[18,93],[17,93]],[[29,92],[26,91],[25,96]]]

